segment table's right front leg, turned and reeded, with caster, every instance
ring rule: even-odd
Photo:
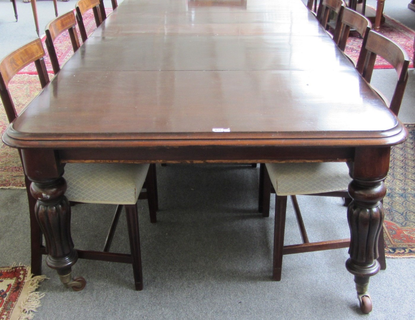
[[[355,162],[350,165],[353,181],[349,194],[353,198],[347,210],[350,227],[350,258],[347,270],[354,275],[360,309],[370,313],[372,301],[367,288],[369,278],[378,273],[378,237],[383,225],[381,200],[386,195],[383,183],[389,168],[390,148],[356,149]],[[376,159],[377,165],[373,164]]]

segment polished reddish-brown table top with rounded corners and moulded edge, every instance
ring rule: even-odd
[[[4,139],[17,147],[34,139],[55,147],[72,139],[402,139],[303,3],[215,3],[124,1]]]

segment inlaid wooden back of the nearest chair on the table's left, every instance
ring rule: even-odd
[[[45,50],[41,40],[38,38],[13,51],[0,62],[0,96],[9,122],[12,122],[17,117],[15,105],[9,91],[10,80],[20,70],[34,62],[41,87],[44,88],[49,83],[49,76],[43,59],[44,56]]]

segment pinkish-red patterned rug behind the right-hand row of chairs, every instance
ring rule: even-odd
[[[381,29],[378,31],[383,34],[385,37],[393,40],[394,42],[400,44],[400,46],[408,52],[410,62],[409,67],[413,68],[413,55],[414,55],[414,37],[415,31],[405,27],[400,22],[393,20],[387,15],[385,17],[385,22],[381,24]],[[354,61],[356,64],[357,58],[359,58],[359,51],[361,48],[362,39],[360,38],[359,33],[356,31],[350,32],[350,37],[347,40],[346,49],[344,52]],[[376,58],[375,69],[392,69],[391,66],[386,60],[381,57]]]

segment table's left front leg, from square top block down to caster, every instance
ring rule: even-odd
[[[64,286],[74,291],[82,290],[85,279],[72,279],[71,276],[78,253],[71,237],[71,206],[65,197],[63,166],[53,150],[22,150],[22,159],[25,172],[32,181],[30,193],[37,200],[34,215],[45,237],[46,264],[57,271]]]

